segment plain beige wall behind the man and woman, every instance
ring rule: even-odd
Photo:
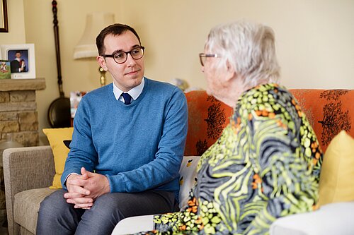
[[[84,32],[86,13],[93,11],[113,12],[117,22],[130,24],[139,32],[147,48],[145,75],[155,80],[183,78],[191,86],[205,88],[198,53],[207,33],[219,23],[245,18],[275,30],[282,84],[288,88],[354,89],[353,0],[57,1],[67,96],[71,90],[99,87],[96,61],[72,57]],[[9,0],[10,19],[18,12],[14,9],[22,12],[23,6],[25,41],[13,36],[15,25],[9,20],[12,36],[0,33],[0,44],[35,43],[36,73],[47,83],[47,89],[37,93],[41,129],[48,126],[50,102],[59,96],[52,9],[50,1]]]

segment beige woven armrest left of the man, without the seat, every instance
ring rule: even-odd
[[[8,230],[13,229],[13,197],[33,188],[49,187],[55,175],[50,146],[15,147],[3,153]]]

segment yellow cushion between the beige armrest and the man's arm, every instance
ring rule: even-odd
[[[43,133],[47,135],[50,147],[52,147],[55,164],[55,176],[53,179],[53,184],[49,188],[62,188],[60,177],[63,174],[65,160],[67,159],[67,154],[69,153],[69,148],[64,145],[63,140],[71,140],[73,131],[74,128],[72,127],[43,129]]]

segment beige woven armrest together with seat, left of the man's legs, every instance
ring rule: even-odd
[[[16,147],[4,150],[4,181],[8,233],[35,234],[40,202],[55,175],[50,146]]]

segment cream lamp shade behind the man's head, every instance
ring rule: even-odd
[[[87,14],[84,34],[76,47],[74,47],[74,59],[96,58],[98,56],[96,37],[103,28],[113,23],[113,13],[93,12]]]

